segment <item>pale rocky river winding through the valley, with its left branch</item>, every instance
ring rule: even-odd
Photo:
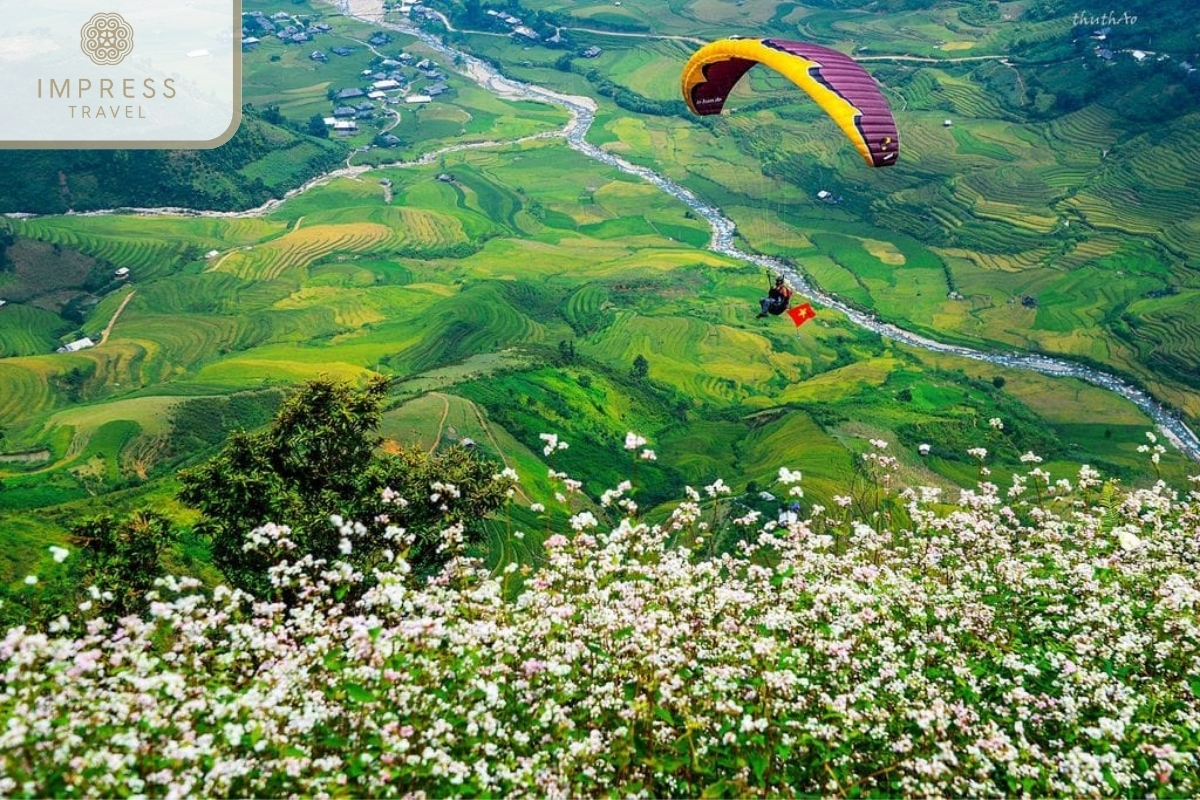
[[[600,148],[587,142],[587,132],[592,127],[592,122],[595,120],[596,104],[590,97],[582,97],[576,95],[563,95],[544,86],[538,86],[533,84],[522,83],[514,80],[499,73],[494,67],[492,67],[486,61],[482,61],[469,53],[457,50],[444,44],[440,38],[416,29],[412,25],[400,24],[395,22],[389,22],[383,19],[382,4],[377,5],[372,0],[337,0],[337,6],[342,13],[347,16],[353,16],[362,22],[371,23],[373,25],[380,25],[383,28],[392,29],[397,32],[404,34],[406,36],[413,36],[421,40],[426,46],[445,55],[455,68],[468,78],[478,83],[480,86],[494,92],[496,95],[509,98],[509,100],[532,100],[540,101],[545,103],[551,103],[564,108],[570,114],[570,121],[559,131],[553,131],[548,133],[536,134],[529,138],[548,138],[548,137],[562,137],[565,138],[566,143],[578,152],[583,154],[589,158],[594,158],[601,163],[608,164],[616,169],[619,169],[630,175],[636,175],[637,178],[647,181],[662,190],[667,194],[679,199],[684,203],[691,211],[702,217],[713,229],[713,237],[709,242],[709,249],[727,255],[730,258],[739,259],[743,261],[749,261],[751,264],[757,264],[768,270],[780,272],[786,275],[792,285],[796,287],[800,293],[811,297],[822,306],[829,308],[836,308],[839,312],[850,318],[854,324],[860,325],[868,330],[875,331],[880,336],[901,342],[910,347],[920,348],[932,353],[944,353],[947,355],[961,356],[965,359],[974,359],[977,361],[986,361],[989,363],[995,363],[1004,367],[1012,367],[1015,369],[1027,369],[1031,372],[1038,372],[1046,375],[1054,375],[1060,378],[1076,378],[1079,380],[1085,380],[1087,383],[1094,384],[1108,389],[1109,391],[1121,395],[1126,399],[1134,403],[1138,408],[1145,411],[1159,427],[1163,435],[1181,452],[1190,457],[1193,461],[1200,462],[1200,438],[1180,419],[1177,415],[1170,410],[1163,408],[1163,405],[1151,397],[1148,393],[1141,391],[1140,389],[1130,385],[1129,383],[1111,375],[1109,373],[1102,372],[1099,369],[1093,369],[1082,365],[1073,363],[1062,359],[1054,359],[1044,355],[1030,355],[1030,354],[1002,354],[1002,353],[988,353],[984,350],[974,350],[966,347],[960,347],[956,344],[946,344],[936,339],[931,339],[911,331],[906,331],[890,323],[880,321],[874,315],[863,313],[856,308],[851,308],[842,301],[840,301],[834,295],[823,293],[814,287],[804,275],[798,273],[788,264],[780,261],[778,259],[760,255],[757,253],[746,253],[738,249],[733,245],[733,221],[721,213],[720,209],[713,206],[701,198],[698,198],[690,190],[679,186],[674,181],[664,178],[662,175],[655,173],[652,169],[634,164],[619,156],[611,152],[601,150]],[[466,150],[472,148],[488,148],[496,146],[499,143],[472,143],[462,145],[452,145],[443,150],[426,154],[421,158],[414,162],[408,162],[407,164],[427,164],[436,161],[440,155],[445,152]],[[505,143],[511,144],[511,143]],[[371,167],[355,167],[348,164],[344,168],[332,170],[325,175],[322,175],[312,181],[308,181],[304,186],[292,190],[283,198],[269,200],[257,209],[251,209],[247,211],[196,211],[193,209],[181,209],[181,207],[163,207],[163,209],[113,209],[106,211],[92,211],[85,213],[156,213],[156,215],[202,215],[202,216],[214,216],[214,217],[247,217],[247,216],[260,216],[274,209],[276,209],[287,198],[299,194],[312,186],[328,182],[335,178],[350,178],[358,176],[365,172],[372,169]],[[10,215],[10,216],[28,216],[28,215]]]

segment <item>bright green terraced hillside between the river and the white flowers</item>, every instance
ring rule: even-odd
[[[974,475],[979,441],[997,474],[1032,450],[1056,474],[1086,461],[1150,475],[1148,421],[1098,389],[930,359],[828,312],[799,337],[755,320],[762,276],[683,243],[706,239],[689,217],[548,140],[331,181],[263,218],[10,219],[18,265],[54,247],[82,275],[98,259],[106,275],[137,265],[83,306],[76,332],[108,329],[103,344],[52,354],[35,341],[0,359],[5,450],[35,453],[0,463],[13,547],[88,509],[166,497],[179,467],[260,425],[278,387],[319,375],[392,377],[390,438],[472,438],[518,458],[532,499],[552,493],[541,433],[571,441],[560,464],[595,493],[622,470],[604,453],[629,431],[648,437],[672,464],[643,468],[652,506],[716,476],[752,499],[784,465],[828,505],[869,438],[890,440],[906,475],[946,486]],[[0,341],[28,308],[0,309]],[[997,416],[1003,431],[988,425]]]

